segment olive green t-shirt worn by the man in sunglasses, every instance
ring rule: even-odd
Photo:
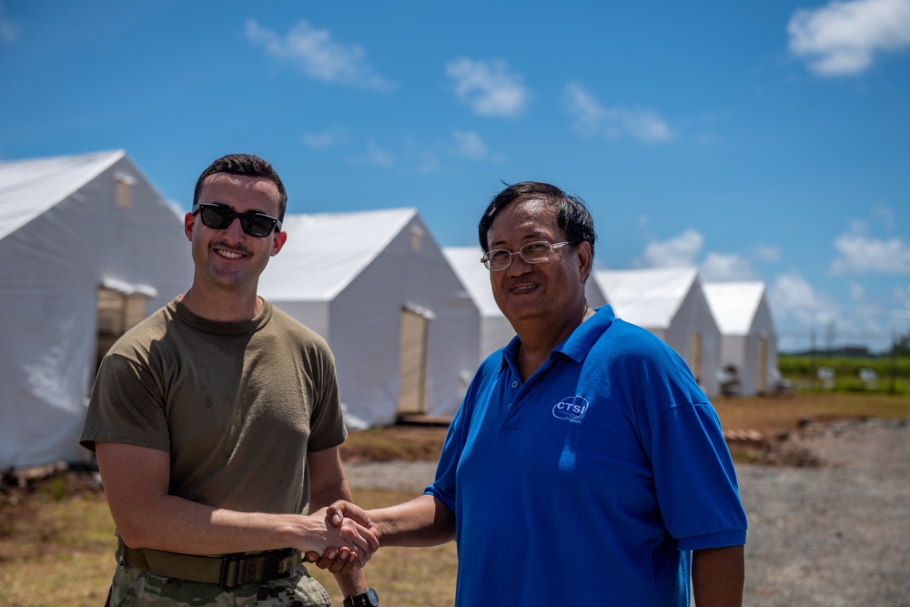
[[[216,322],[175,299],[119,339],[80,444],[170,454],[170,494],[234,511],[306,512],[307,452],[347,438],[325,340],[268,302]]]

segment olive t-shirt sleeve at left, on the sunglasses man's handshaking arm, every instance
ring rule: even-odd
[[[120,354],[102,360],[79,444],[94,451],[96,441],[170,451],[164,400],[147,366]]]

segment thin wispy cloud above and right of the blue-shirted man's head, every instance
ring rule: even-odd
[[[628,136],[648,143],[663,143],[675,138],[670,126],[657,112],[602,106],[578,83],[566,85],[565,106],[573,119],[572,127],[582,137],[603,135],[608,139],[619,139]]]

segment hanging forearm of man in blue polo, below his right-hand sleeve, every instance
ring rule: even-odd
[[[744,580],[743,546],[693,551],[696,607],[741,607]]]

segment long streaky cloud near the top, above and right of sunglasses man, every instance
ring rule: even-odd
[[[329,30],[316,29],[306,21],[300,21],[281,37],[248,19],[246,35],[269,55],[290,62],[317,80],[380,90],[394,87],[369,66],[363,48],[336,42]]]

